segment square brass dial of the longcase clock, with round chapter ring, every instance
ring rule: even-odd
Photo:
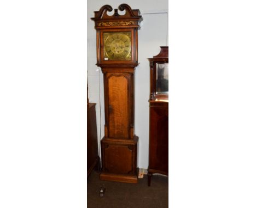
[[[104,60],[131,60],[131,32],[103,33]]]

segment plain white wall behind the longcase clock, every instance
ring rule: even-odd
[[[135,72],[135,134],[139,137],[138,167],[148,168],[148,140],[149,140],[149,62],[160,52],[160,46],[168,45],[168,1],[88,1],[88,96],[90,102],[97,103],[97,133],[98,140],[104,136],[104,94],[103,74],[96,64],[96,30],[94,11],[109,4],[113,9],[122,3],[130,5],[132,9],[139,9],[143,17],[141,29],[138,31],[138,62]],[[112,11],[113,13],[113,11]],[[101,106],[101,108],[100,108]],[[100,117],[101,114],[101,117]],[[101,119],[100,119],[101,118]],[[101,123],[101,124],[100,124]],[[101,126],[101,131],[100,131]],[[101,133],[101,136],[100,136]],[[100,143],[100,142],[99,142]]]

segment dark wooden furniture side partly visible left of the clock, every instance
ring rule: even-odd
[[[97,168],[97,164],[100,162],[95,105],[96,103],[87,104],[87,177],[94,168]]]

